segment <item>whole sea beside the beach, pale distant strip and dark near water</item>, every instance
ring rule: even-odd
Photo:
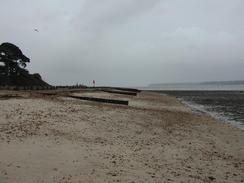
[[[161,84],[145,87],[175,96],[195,112],[204,112],[244,131],[244,84]]]

